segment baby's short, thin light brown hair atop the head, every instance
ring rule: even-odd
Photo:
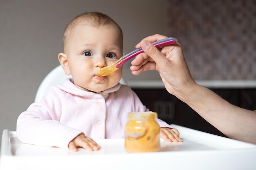
[[[69,24],[67,24],[63,35],[63,52],[65,53],[65,46],[70,38],[70,34],[78,24],[89,24],[95,27],[113,25],[117,27],[117,31],[123,39],[123,32],[120,26],[108,15],[100,12],[85,12],[77,15]]]

